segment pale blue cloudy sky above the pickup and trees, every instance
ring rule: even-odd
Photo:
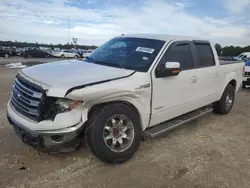
[[[0,40],[100,45],[155,33],[246,46],[249,10],[250,0],[0,0]]]

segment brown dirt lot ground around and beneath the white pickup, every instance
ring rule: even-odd
[[[250,89],[232,112],[213,113],[151,141],[122,165],[107,165],[86,148],[60,155],[23,144],[6,120],[16,69],[0,67],[0,187],[250,187]]]

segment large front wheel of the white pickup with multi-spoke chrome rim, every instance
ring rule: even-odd
[[[120,128],[117,128],[119,123],[116,123],[116,125],[118,125],[116,129],[118,132],[121,132],[116,135],[116,138],[114,132],[109,132],[110,134],[108,134],[107,137],[113,135],[114,138],[105,141],[105,134],[107,133],[106,127],[109,127],[108,123],[110,122],[110,118],[116,116],[125,118],[122,127],[127,127],[126,130],[124,129],[127,137],[121,138],[123,133]],[[120,120],[117,121],[120,122]],[[125,125],[126,122],[129,122],[129,126],[127,126],[128,124]],[[113,124],[109,128],[112,128],[112,126]],[[89,119],[89,127],[86,132],[85,139],[89,150],[95,157],[110,164],[124,163],[129,160],[138,150],[142,139],[140,118],[137,112],[133,108],[122,103],[108,104],[97,109]],[[114,145],[114,147],[112,147],[113,139],[116,139],[116,145]],[[121,147],[120,141],[118,140],[122,140],[123,147]],[[110,145],[112,146],[108,144],[108,141],[111,142]]]

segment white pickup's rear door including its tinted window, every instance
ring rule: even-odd
[[[221,72],[216,65],[215,54],[207,41],[193,41],[191,43],[197,70],[197,84],[199,87],[199,102],[203,105],[212,103],[217,98],[221,88]],[[216,56],[217,57],[217,56]]]

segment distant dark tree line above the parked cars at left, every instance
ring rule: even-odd
[[[71,49],[74,48],[74,44],[43,44],[43,43],[31,43],[31,42],[18,42],[18,41],[0,41],[0,46],[16,47],[16,48],[25,48],[25,47],[46,47],[46,48],[60,48],[60,49]],[[96,49],[95,45],[77,45],[77,48],[80,49]]]

